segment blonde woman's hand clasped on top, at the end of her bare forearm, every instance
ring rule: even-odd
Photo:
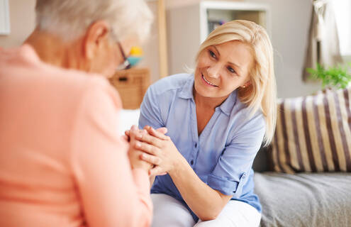
[[[169,136],[164,135],[150,126],[144,128],[147,133],[135,136],[138,141],[135,148],[143,151],[140,158],[155,165],[149,172],[151,176],[162,175],[165,172],[175,170],[183,156],[172,142]]]

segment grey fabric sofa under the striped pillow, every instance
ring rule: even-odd
[[[351,173],[272,172],[267,148],[257,153],[255,193],[262,204],[260,226],[350,227]]]

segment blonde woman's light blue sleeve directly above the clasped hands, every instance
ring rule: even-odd
[[[159,101],[160,99],[157,99],[153,87],[150,86],[140,106],[139,128],[144,128],[145,126],[160,128],[165,126],[160,117]]]

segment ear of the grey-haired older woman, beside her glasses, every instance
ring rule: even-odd
[[[85,34],[83,48],[84,57],[94,59],[96,52],[108,41],[110,29],[106,21],[96,21],[89,26]]]

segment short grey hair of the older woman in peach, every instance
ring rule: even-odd
[[[73,40],[94,21],[104,20],[119,40],[134,35],[143,40],[150,31],[152,13],[144,0],[37,0],[40,31]]]

